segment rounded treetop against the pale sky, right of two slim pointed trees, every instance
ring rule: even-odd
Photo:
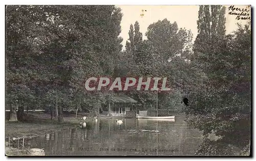
[[[166,18],[150,24],[145,35],[153,46],[156,60],[161,63],[176,58],[186,59],[184,52],[187,52],[192,45],[191,32],[179,29],[176,22],[170,23]]]

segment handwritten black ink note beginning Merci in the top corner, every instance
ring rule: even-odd
[[[228,7],[228,14],[236,16],[236,20],[250,20],[251,6]]]

